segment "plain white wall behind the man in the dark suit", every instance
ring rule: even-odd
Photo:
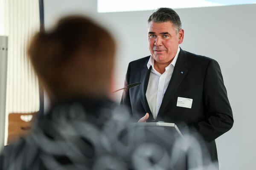
[[[96,11],[96,0],[44,0],[46,26],[67,11]],[[222,70],[233,128],[216,140],[221,170],[253,170],[256,167],[256,5],[177,9],[186,51],[216,59]],[[116,88],[123,86],[128,62],[149,55],[146,21],[152,11],[102,13],[118,37]],[[120,99],[121,92],[116,94]]]

